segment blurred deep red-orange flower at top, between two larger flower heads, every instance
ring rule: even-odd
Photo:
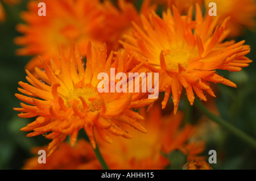
[[[123,39],[125,34],[131,34],[132,22],[141,24],[141,14],[147,16],[152,10],[156,9],[155,5],[151,5],[150,0],[143,1],[139,12],[133,3],[125,0],[118,0],[117,6],[112,1],[105,0],[102,6],[105,21],[102,31],[98,36],[112,50],[121,48],[118,40]]]

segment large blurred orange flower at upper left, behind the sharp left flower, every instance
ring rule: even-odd
[[[104,22],[100,0],[46,0],[46,16],[38,15],[39,2],[28,2],[28,11],[20,14],[25,24],[16,27],[24,34],[15,38],[15,44],[23,46],[16,50],[16,54],[35,56],[26,69],[34,70],[42,65],[36,57],[39,55],[45,60],[57,59],[60,47],[68,54],[69,46],[74,41],[83,50],[86,50],[89,41],[98,45],[103,43],[97,38]],[[82,51],[81,55],[85,56],[86,51]]]

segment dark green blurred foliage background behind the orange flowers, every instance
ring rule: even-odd
[[[15,56],[18,47],[13,41],[20,35],[15,26],[22,23],[19,14],[26,10],[27,2],[21,1],[17,6],[3,4],[7,18],[0,23],[0,169],[21,169],[26,159],[32,156],[30,149],[33,146],[49,142],[43,136],[28,138],[27,132],[19,131],[33,119],[19,118],[18,112],[13,110],[13,107],[20,107],[20,101],[14,94],[18,92],[18,82],[26,82],[24,66],[31,58]],[[136,1],[137,7],[140,4],[141,1]],[[256,30],[246,31],[245,35],[237,38],[237,41],[240,40],[246,40],[246,44],[251,45],[251,53],[247,57],[255,60]],[[256,138],[256,62],[241,72],[220,71],[220,74],[237,84],[237,89],[217,85],[216,103],[221,116]],[[185,100],[180,108],[185,109],[184,105]],[[188,117],[198,114],[195,108],[189,109],[191,115]],[[207,158],[210,149],[218,154],[217,164],[211,165],[213,169],[256,169],[256,151],[225,130],[213,132],[208,138],[204,153]]]

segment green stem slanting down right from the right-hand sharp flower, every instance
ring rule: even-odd
[[[242,132],[240,129],[234,127],[232,124],[228,123],[221,117],[218,117],[207,110],[207,108],[204,107],[204,105],[196,98],[195,99],[195,106],[205,114],[209,119],[213,120],[217,124],[221,125],[223,128],[228,130],[230,133],[233,133],[235,136],[241,138],[241,140],[247,142],[247,144],[253,146],[254,149],[256,149],[256,141],[254,138],[250,137],[246,133]]]

